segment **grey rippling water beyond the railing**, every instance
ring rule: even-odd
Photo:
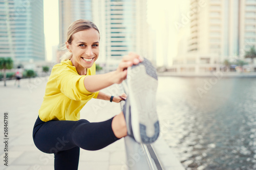
[[[256,79],[160,77],[157,105],[186,169],[256,169]]]

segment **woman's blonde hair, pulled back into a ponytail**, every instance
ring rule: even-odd
[[[71,23],[71,25],[68,28],[67,42],[69,44],[71,44],[73,41],[73,35],[75,33],[79,32],[79,31],[83,31],[83,30],[89,30],[91,28],[97,30],[99,33],[97,26],[92,21],[89,21],[86,19],[78,19],[78,20],[74,21],[73,23]],[[62,44],[60,49],[67,50],[66,43]],[[72,53],[67,51],[64,55],[62,55],[60,57],[60,61],[70,60],[72,58],[72,56],[73,56]]]

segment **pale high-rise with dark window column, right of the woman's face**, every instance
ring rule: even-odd
[[[148,51],[146,3],[146,0],[93,2],[93,21],[101,35],[101,60],[107,63],[109,69],[115,69],[122,56],[131,51],[152,58]]]

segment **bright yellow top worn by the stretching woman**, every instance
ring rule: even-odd
[[[95,75],[95,63],[87,69],[87,75]],[[83,80],[70,60],[61,61],[52,68],[46,85],[44,101],[39,109],[42,121],[49,120],[79,120],[80,110],[92,98],[97,98],[99,92],[89,92],[84,87]]]

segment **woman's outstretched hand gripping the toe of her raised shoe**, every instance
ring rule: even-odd
[[[127,56],[123,56],[122,61],[120,62],[118,68],[115,71],[116,82],[117,84],[122,83],[127,76],[127,68],[131,67],[133,64],[136,65],[143,61],[143,58],[136,53],[130,52]]]

